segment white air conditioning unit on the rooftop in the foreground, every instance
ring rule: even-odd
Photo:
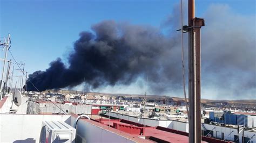
[[[43,121],[40,143],[72,142],[75,143],[76,129],[63,121]]]

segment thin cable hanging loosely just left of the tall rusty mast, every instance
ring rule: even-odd
[[[186,96],[186,87],[185,87],[185,67],[184,67],[184,46],[183,46],[183,11],[182,11],[182,0],[180,0],[180,21],[181,21],[181,61],[182,61],[182,78],[183,78],[183,92],[186,103],[186,110],[188,115],[187,108],[187,96]]]

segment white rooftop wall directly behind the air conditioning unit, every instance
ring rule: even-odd
[[[0,142],[39,142],[44,120],[71,122],[70,115],[0,114]]]

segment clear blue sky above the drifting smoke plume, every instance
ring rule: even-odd
[[[111,19],[161,28],[179,2],[1,0],[0,37],[11,34],[12,54],[25,62],[25,70],[31,74],[45,70],[58,57],[65,60],[78,34],[90,30],[92,24]],[[227,4],[239,15],[255,15],[254,0],[196,0],[196,16],[202,17],[213,3]]]

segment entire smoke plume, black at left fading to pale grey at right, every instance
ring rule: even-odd
[[[202,17],[206,21],[201,28],[202,97],[255,99],[255,14],[238,15],[228,5],[212,4]],[[168,36],[150,26],[96,24],[93,32],[80,33],[67,64],[57,59],[45,71],[29,75],[29,80],[43,91],[72,88],[84,81],[91,88],[129,85],[148,75],[151,94],[182,96],[179,18],[178,5],[164,24],[170,27]],[[187,35],[184,38],[187,41]],[[27,84],[28,90],[36,91]]]

